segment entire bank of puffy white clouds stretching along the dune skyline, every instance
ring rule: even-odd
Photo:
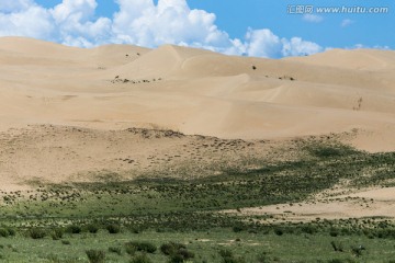
[[[31,36],[81,47],[106,43],[147,47],[176,44],[274,58],[321,50],[315,43],[300,37],[281,38],[269,28],[249,28],[244,39],[232,38],[216,26],[214,13],[191,10],[187,0],[158,0],[157,4],[153,0],[115,0],[120,9],[111,19],[95,18],[95,0],[63,0],[53,9],[40,7],[34,0],[0,1],[3,36]]]

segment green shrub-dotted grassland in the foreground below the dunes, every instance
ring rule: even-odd
[[[213,163],[204,176],[180,165],[131,181],[102,173],[100,182],[3,193],[0,261],[394,262],[395,225],[385,218],[294,224],[219,213],[302,202],[339,184],[395,185],[395,152],[295,144],[297,158]]]

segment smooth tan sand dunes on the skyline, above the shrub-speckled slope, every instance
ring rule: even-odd
[[[263,139],[359,129],[356,146],[395,149],[390,50],[334,49],[272,60],[171,45],[80,49],[3,37],[0,95],[2,130],[27,124],[138,126]]]

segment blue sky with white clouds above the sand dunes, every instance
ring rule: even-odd
[[[395,49],[394,0],[0,0],[0,36],[281,58]]]

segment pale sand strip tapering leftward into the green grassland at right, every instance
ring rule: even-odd
[[[271,215],[270,221],[314,221],[320,219],[395,218],[395,188],[362,190],[331,198],[312,198],[294,204],[278,204],[241,208],[224,213],[238,215]]]

